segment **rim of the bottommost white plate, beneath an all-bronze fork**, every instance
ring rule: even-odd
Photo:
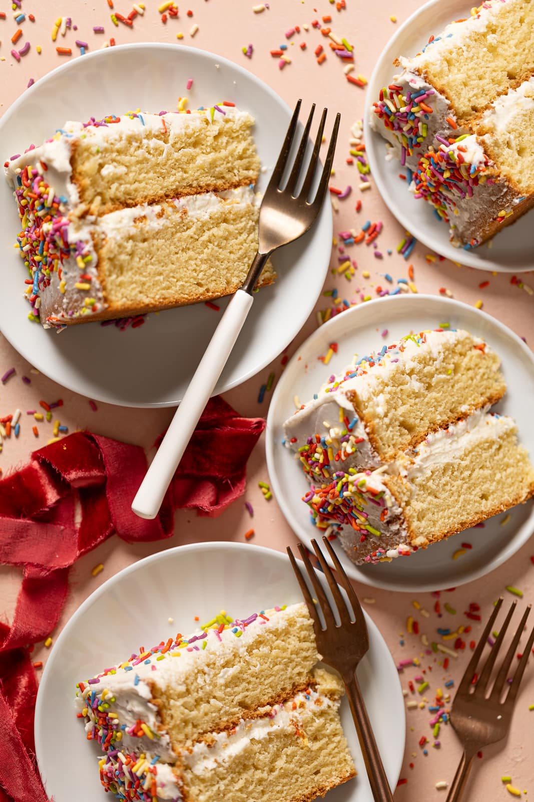
[[[66,622],[65,626],[63,626],[62,631],[59,633],[58,638],[56,639],[54,650],[50,653],[50,658],[47,659],[44,670],[42,672],[42,677],[39,682],[38,686],[38,693],[37,699],[35,701],[35,713],[34,713],[34,739],[35,739],[35,755],[37,758],[38,764],[38,771],[40,776],[44,772],[41,769],[41,760],[39,759],[39,753],[42,754],[42,740],[41,740],[41,731],[43,733],[42,737],[45,737],[44,733],[46,731],[46,723],[45,723],[45,702],[47,698],[46,694],[46,684],[48,683],[49,675],[53,674],[54,671],[54,662],[60,659],[60,648],[62,646],[63,641],[66,641],[69,632],[72,627],[76,626],[76,622],[82,615],[90,608],[90,606],[94,603],[94,600],[104,595],[113,585],[122,579],[122,577],[127,577],[131,573],[135,573],[139,569],[143,569],[146,565],[150,564],[151,562],[158,562],[163,559],[168,559],[169,557],[175,557],[177,554],[183,554],[184,552],[193,552],[195,551],[209,551],[216,547],[217,549],[222,549],[223,551],[240,551],[243,553],[250,553],[251,549],[255,549],[255,553],[261,556],[267,556],[274,560],[278,560],[287,564],[287,556],[285,553],[278,551],[277,549],[270,549],[267,546],[262,545],[248,545],[246,543],[239,543],[235,541],[207,541],[202,543],[187,543],[185,545],[174,546],[171,549],[163,549],[162,551],[156,552],[154,554],[149,554],[147,557],[143,557],[141,560],[137,560],[130,565],[126,565],[125,568],[121,569],[117,573],[114,573],[112,577],[107,579],[105,582],[102,583],[98,588],[94,589],[93,593],[82,602],[82,604],[74,610],[74,613],[70,616],[68,621]],[[300,560],[297,560],[299,565],[303,567],[303,564]],[[320,573],[319,580],[327,588],[326,579]],[[345,593],[343,589],[342,593]],[[402,690],[402,684],[399,678],[399,672],[396,669],[395,660],[393,659],[393,655],[391,654],[391,650],[389,646],[387,646],[387,642],[385,638],[383,638],[383,634],[380,632],[379,627],[375,624],[371,616],[367,613],[367,610],[363,610],[363,615],[366,619],[367,629],[370,629],[374,632],[375,638],[379,643],[379,647],[383,650],[386,660],[388,659],[391,665],[391,680],[393,677],[396,678],[395,687],[397,687],[397,698],[398,698],[398,715],[400,715],[402,719],[402,723],[404,723],[403,727],[399,727],[402,735],[401,741],[402,743],[399,746],[402,746],[402,749],[399,750],[399,755],[396,756],[392,776],[394,779],[393,790],[395,790],[397,781],[399,780],[400,772],[402,771],[402,766],[404,763],[404,755],[406,752],[406,708],[404,706],[404,695]],[[46,780],[46,777],[42,778],[43,781]]]

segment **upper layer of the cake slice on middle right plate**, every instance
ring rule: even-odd
[[[423,331],[359,358],[284,424],[312,481],[377,468],[432,431],[496,403],[500,358],[464,330]]]

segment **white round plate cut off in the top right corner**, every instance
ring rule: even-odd
[[[428,248],[442,256],[459,261],[480,270],[534,270],[532,258],[532,213],[524,215],[514,225],[502,229],[492,241],[491,247],[480,245],[472,250],[455,248],[448,238],[448,225],[434,215],[434,207],[416,200],[408,192],[406,181],[399,179],[404,172],[396,159],[386,161],[385,140],[369,125],[371,107],[379,97],[380,89],[391,83],[399,71],[393,66],[399,55],[407,57],[419,53],[428,43],[431,34],[439,34],[453,19],[468,17],[472,6],[466,0],[431,0],[421,6],[399,27],[383,49],[367,88],[363,131],[371,173],[387,208]]]

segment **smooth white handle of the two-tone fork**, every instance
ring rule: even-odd
[[[238,290],[224,311],[131,505],[141,518],[157,516],[183,452],[247,319],[252,300],[251,294]]]

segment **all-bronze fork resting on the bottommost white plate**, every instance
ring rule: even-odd
[[[359,689],[358,679],[356,678],[356,667],[369,649],[367,624],[363,617],[362,608],[359,606],[358,597],[348,580],[347,574],[343,570],[343,566],[339,562],[337,554],[334,549],[332,549],[326,537],[323,537],[323,541],[339,575],[339,582],[345,590],[345,593],[347,593],[352,610],[347,607],[339,585],[335,581],[334,574],[331,572],[330,566],[327,564],[315,540],[311,541],[311,545],[313,545],[315,554],[319,560],[319,565],[323,569],[324,576],[331,589],[335,610],[332,609],[330,602],[328,602],[323,585],[315,573],[303,545],[299,543],[299,553],[306,567],[307,575],[310,577],[311,585],[313,585],[316,601],[311,597],[303,574],[289,547],[287,548],[287,553],[289,554],[291,565],[295,571],[295,576],[299,581],[300,589],[303,592],[307,609],[310,611],[310,616],[313,620],[317,650],[319,654],[321,654],[324,662],[339,671],[343,683],[345,683],[347,699],[351,706],[352,718],[354,719],[356,732],[358,733],[359,745],[362,750],[363,761],[367,769],[367,776],[369,778],[369,784],[371,785],[373,798],[375,802],[393,802],[386,772],[384,771],[382,759],[380,758],[378,747],[376,746],[375,735],[372,731],[371,722],[369,721],[369,716],[367,715],[365,704],[363,703],[363,696]],[[323,612],[324,621],[326,623],[325,629],[321,626],[316,605],[318,605]],[[340,621],[339,624],[335,621],[336,610]]]

